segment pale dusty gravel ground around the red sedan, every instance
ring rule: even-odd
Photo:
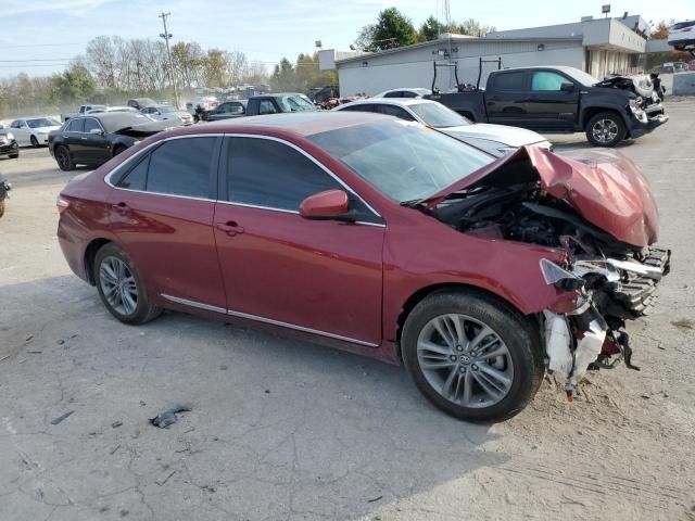
[[[0,518],[695,519],[695,101],[667,109],[665,128],[622,147],[673,249],[654,314],[630,327],[642,370],[591,373],[573,404],[548,380],[490,427],[435,410],[397,367],[184,314],[116,322],[58,246],[70,176],[46,149],[0,161],[14,185]],[[193,410],[150,425],[177,403]]]

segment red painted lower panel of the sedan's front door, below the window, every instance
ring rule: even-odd
[[[218,203],[227,307],[379,344],[383,234],[383,227]]]

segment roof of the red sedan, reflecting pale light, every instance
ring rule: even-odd
[[[263,116],[245,116],[233,119],[223,119],[205,125],[195,125],[177,129],[177,135],[188,134],[218,134],[265,130],[268,134],[291,132],[306,137],[315,134],[355,127],[379,120],[384,116],[368,112],[334,112],[334,111],[303,111],[294,113],[268,114]]]

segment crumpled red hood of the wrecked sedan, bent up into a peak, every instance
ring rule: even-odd
[[[657,240],[659,213],[649,183],[628,157],[614,150],[582,150],[564,156],[538,147],[522,147],[430,196],[435,207],[451,193],[492,178],[504,165],[529,160],[541,187],[568,203],[589,223],[619,241],[646,246]],[[496,178],[500,183],[504,179]],[[509,183],[515,182],[514,178]]]

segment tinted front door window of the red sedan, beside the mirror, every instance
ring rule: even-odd
[[[343,189],[316,163],[287,144],[257,138],[229,138],[228,200],[299,211],[304,199]]]

